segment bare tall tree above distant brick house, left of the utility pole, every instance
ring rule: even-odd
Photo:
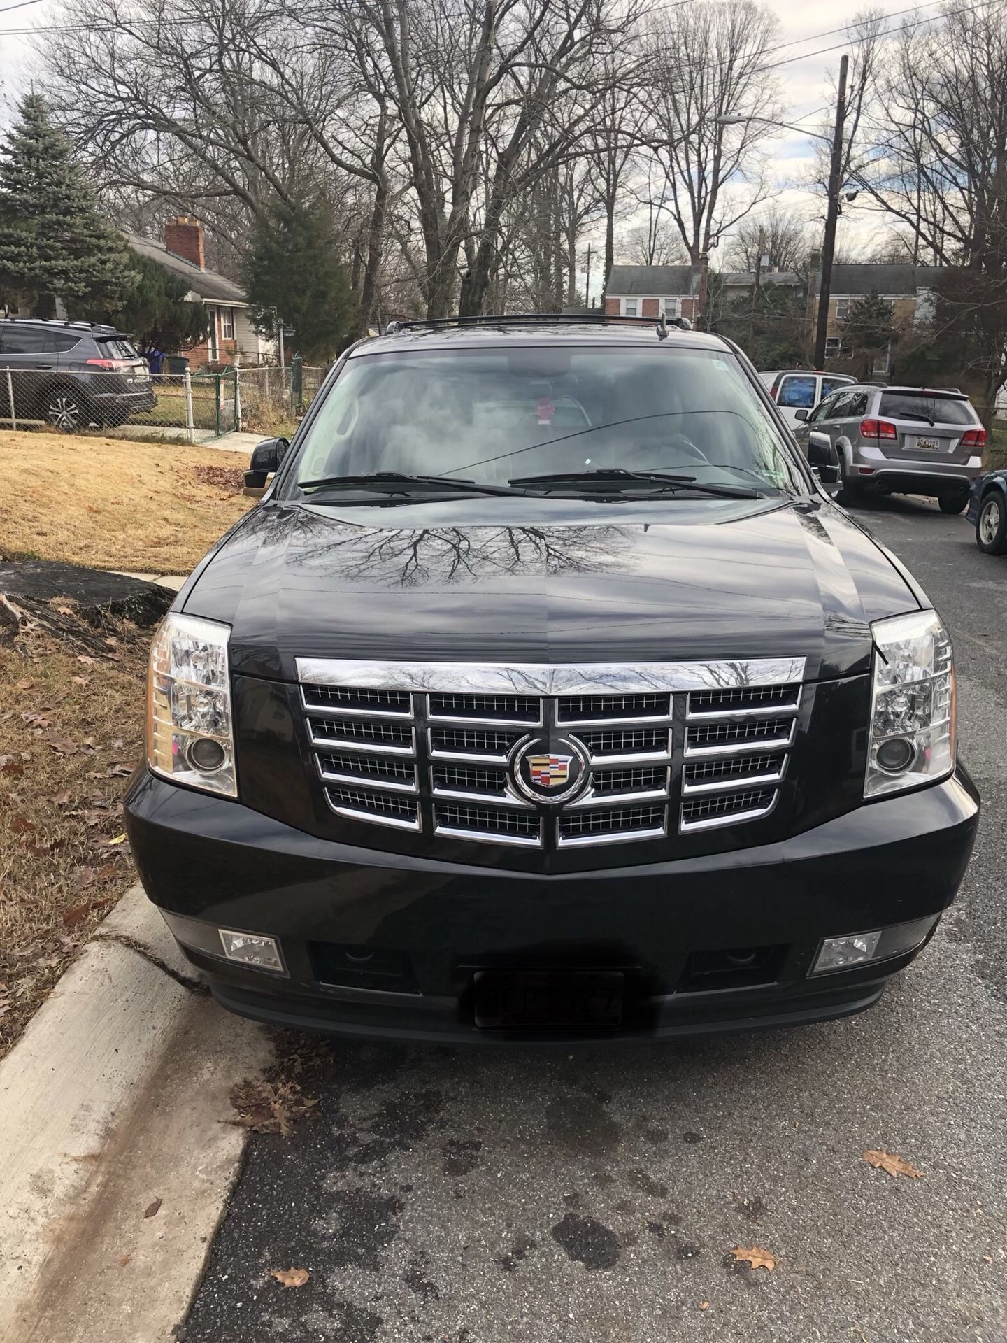
[[[777,32],[752,0],[697,0],[651,20],[650,154],[693,265],[763,199],[757,144],[780,114],[767,52]],[[724,125],[721,117],[744,117]],[[744,181],[744,187],[738,187]],[[729,187],[730,184],[730,187]]]

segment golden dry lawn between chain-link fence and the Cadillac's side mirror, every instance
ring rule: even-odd
[[[244,454],[0,432],[0,548],[99,569],[188,573],[248,508]],[[209,470],[207,470],[209,469]],[[16,488],[13,488],[13,482]]]

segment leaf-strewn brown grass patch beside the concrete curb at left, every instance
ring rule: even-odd
[[[38,629],[0,643],[0,1056],[136,880],[121,798],[150,631],[99,638],[95,655]]]

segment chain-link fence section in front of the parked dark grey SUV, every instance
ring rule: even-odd
[[[136,424],[192,442],[238,427],[236,384],[236,371],[0,368],[0,427],[74,432]]]

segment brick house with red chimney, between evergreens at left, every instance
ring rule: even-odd
[[[207,338],[185,351],[189,368],[204,364],[263,364],[274,359],[271,340],[259,336],[248,316],[248,299],[240,285],[207,270],[203,224],[181,215],[164,226],[164,242],[126,234],[133,251],[149,257],[180,275],[189,286],[188,298],[203,304],[209,316]],[[168,352],[172,353],[172,352]]]

